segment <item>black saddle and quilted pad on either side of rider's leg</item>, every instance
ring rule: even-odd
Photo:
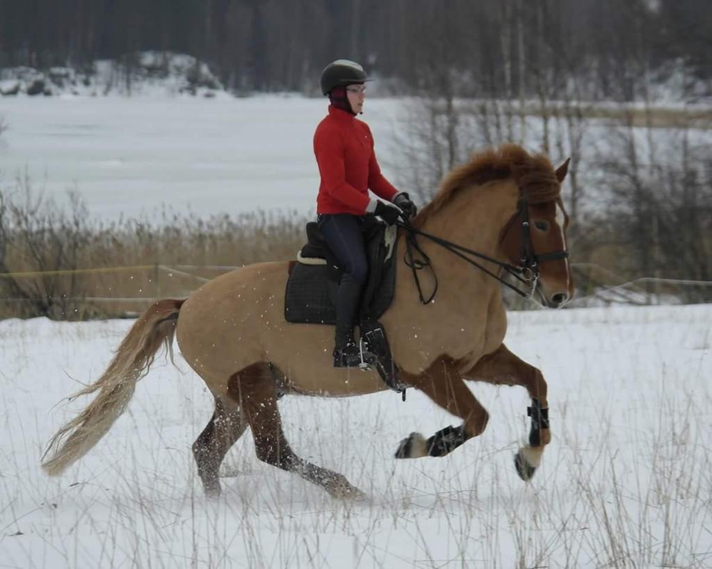
[[[362,294],[360,321],[378,319],[390,306],[395,292],[397,229],[375,223],[377,225],[365,233],[369,270]],[[325,250],[315,223],[308,224],[307,235],[309,243],[300,254],[318,252],[327,262],[322,265],[293,264],[287,280],[284,315],[288,322],[334,324],[334,304],[343,271],[335,265],[330,251]]]

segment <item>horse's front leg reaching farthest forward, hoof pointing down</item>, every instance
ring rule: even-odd
[[[486,381],[495,385],[522,385],[532,399],[527,408],[531,418],[529,445],[522,447],[514,456],[514,466],[520,478],[528,481],[541,463],[544,447],[551,441],[549,430],[549,403],[547,385],[542,373],[529,363],[515,356],[502,344],[493,353],[481,358],[467,379]]]

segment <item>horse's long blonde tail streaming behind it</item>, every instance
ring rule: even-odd
[[[178,312],[183,300],[159,300],[132,326],[103,375],[70,397],[99,394],[77,417],[64,425],[47,445],[42,467],[57,476],[89,452],[126,410],[136,388],[145,376],[157,351],[165,345],[173,361],[172,342]],[[51,456],[47,459],[48,454]]]

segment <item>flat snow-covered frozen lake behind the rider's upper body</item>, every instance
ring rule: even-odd
[[[198,216],[257,208],[315,211],[312,139],[328,101],[303,97],[5,97],[0,171],[85,198],[115,219],[169,204]],[[367,102],[386,176],[394,100]]]

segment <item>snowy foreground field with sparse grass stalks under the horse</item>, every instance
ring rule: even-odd
[[[67,474],[43,445],[85,401],[130,321],[0,321],[3,568],[599,568],[712,566],[712,306],[511,314],[508,346],[549,383],[553,442],[530,484],[520,388],[473,384],[491,419],[449,457],[396,461],[414,430],[453,422],[418,393],[288,397],[302,457],[366,502],[331,499],[258,462],[246,434],[206,501],[190,445],[211,397],[180,356]]]

